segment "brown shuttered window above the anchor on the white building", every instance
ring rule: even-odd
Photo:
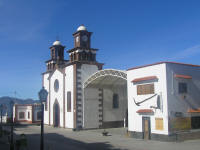
[[[154,84],[137,85],[137,95],[154,94]]]

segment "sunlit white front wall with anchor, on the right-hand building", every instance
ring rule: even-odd
[[[137,106],[136,101],[142,101],[153,94],[137,95],[137,84],[133,84],[132,80],[146,76],[157,76],[158,81],[154,82],[155,93],[161,95],[163,103],[163,111],[154,110],[153,115],[138,114],[136,111],[139,109],[150,109],[150,106],[156,106],[157,96]],[[142,84],[148,84],[144,82]],[[166,86],[166,65],[158,64],[143,68],[127,71],[127,86],[128,86],[128,130],[142,132],[142,117],[148,116],[151,119],[151,133],[168,134],[168,111],[167,111],[167,86]],[[155,129],[155,118],[163,118],[164,130]]]

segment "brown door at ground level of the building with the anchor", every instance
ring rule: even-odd
[[[149,117],[143,117],[143,133],[144,133],[144,139],[149,140],[151,133]]]

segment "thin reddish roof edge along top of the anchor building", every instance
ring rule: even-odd
[[[191,66],[191,67],[200,67],[200,65],[185,64],[185,63],[171,62],[171,61],[162,61],[162,62],[157,62],[157,63],[153,63],[153,64],[148,64],[148,65],[143,65],[143,66],[137,66],[137,67],[129,68],[129,69],[127,69],[127,71],[134,70],[134,69],[139,69],[139,68],[144,68],[144,67],[149,67],[149,66],[154,66],[154,65],[159,65],[159,64],[164,64],[164,63],[186,65],[186,66]]]

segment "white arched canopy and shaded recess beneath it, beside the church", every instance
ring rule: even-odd
[[[127,126],[127,74],[106,69],[84,82],[84,128]]]

